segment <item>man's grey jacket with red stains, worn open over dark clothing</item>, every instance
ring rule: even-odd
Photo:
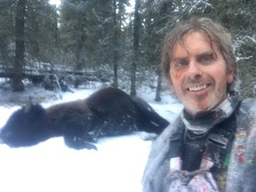
[[[215,188],[216,183],[214,180],[212,182],[211,172],[200,172],[200,170],[196,172],[188,186],[179,184],[182,172],[179,177],[177,172],[171,171],[170,154],[177,149],[173,146],[173,141],[184,137],[180,132],[183,126],[181,118],[178,117],[153,143],[142,179],[143,192],[256,191],[256,100],[243,100],[237,110],[236,133],[225,175],[225,189]]]

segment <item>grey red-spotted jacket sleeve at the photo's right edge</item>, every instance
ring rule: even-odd
[[[243,100],[236,117],[226,191],[252,192],[256,188],[256,100]]]

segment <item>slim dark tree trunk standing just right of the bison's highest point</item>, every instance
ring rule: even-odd
[[[136,70],[139,59],[139,30],[140,30],[140,0],[135,2],[134,22],[133,22],[133,60],[131,68],[131,95],[136,95]]]

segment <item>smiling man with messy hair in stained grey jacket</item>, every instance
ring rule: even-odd
[[[143,191],[256,191],[256,103],[234,92],[227,29],[180,22],[165,38],[162,68],[184,109],[153,144]]]

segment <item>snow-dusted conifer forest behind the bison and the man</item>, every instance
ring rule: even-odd
[[[58,7],[49,0],[0,0],[0,89],[99,81],[135,95],[145,84],[161,100],[165,34],[179,20],[204,16],[230,30],[239,96],[254,97],[255,7],[255,0],[61,0]]]

